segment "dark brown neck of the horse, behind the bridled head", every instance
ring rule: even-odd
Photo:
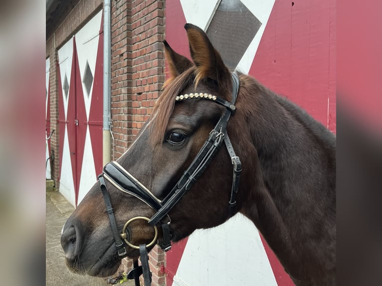
[[[242,212],[255,223],[295,283],[304,283],[312,271],[321,275],[332,251],[317,254],[320,242],[335,235],[335,177],[328,179],[328,174],[335,174],[335,138],[298,107],[256,88],[249,128],[257,155],[248,200],[255,203],[244,205]],[[330,161],[334,165],[328,165]],[[313,243],[307,244],[309,240]],[[312,269],[302,269],[304,263]]]

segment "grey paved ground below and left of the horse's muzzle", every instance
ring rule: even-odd
[[[61,229],[74,207],[57,191],[46,192],[46,286],[110,286],[105,279],[71,273],[60,244]],[[133,286],[133,281],[123,283]]]

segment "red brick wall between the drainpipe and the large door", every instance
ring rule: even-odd
[[[116,0],[111,7],[111,113],[114,159],[134,141],[149,118],[165,81],[164,0]],[[150,253],[152,285],[165,285],[161,272],[165,255],[156,246]],[[130,260],[122,269],[129,271]],[[142,280],[141,280],[142,283]]]

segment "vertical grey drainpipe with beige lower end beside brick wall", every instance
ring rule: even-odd
[[[103,7],[103,156],[102,163],[106,165],[111,161],[111,117],[110,117],[110,0],[104,0]]]

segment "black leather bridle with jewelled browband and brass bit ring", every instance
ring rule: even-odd
[[[138,266],[138,260],[135,260],[134,268],[128,274],[129,279],[135,280],[135,285],[139,285],[139,277],[143,274],[145,286],[151,285],[151,272],[148,263],[147,248],[154,245],[157,242],[158,229],[157,224],[161,224],[163,232],[163,241],[160,243],[160,247],[163,251],[168,251],[171,249],[171,235],[170,235],[170,224],[171,219],[169,216],[169,211],[177,204],[177,202],[183,197],[183,195],[191,189],[191,186],[196,182],[196,180],[205,171],[217,150],[221,144],[225,143],[227,151],[231,157],[233,165],[233,178],[232,178],[232,188],[230,200],[228,202],[229,206],[229,217],[233,214],[233,208],[236,205],[235,196],[239,187],[239,179],[241,173],[241,162],[238,156],[236,156],[233,146],[229,140],[227,134],[227,124],[231,115],[234,114],[236,107],[236,98],[239,90],[239,78],[238,75],[232,73],[232,102],[228,102],[217,96],[212,96],[206,93],[196,93],[196,94],[185,94],[176,97],[176,101],[185,101],[192,99],[206,99],[212,102],[216,102],[226,108],[225,113],[220,117],[219,121],[209,133],[207,140],[204,142],[203,146],[200,148],[196,157],[191,162],[190,166],[183,173],[182,177],[170,191],[170,193],[163,199],[158,199],[149,189],[147,189],[139,180],[137,180],[133,175],[131,175],[127,170],[125,170],[118,162],[110,162],[103,168],[103,173],[98,176],[101,191],[105,200],[106,212],[109,215],[110,226],[112,229],[113,237],[115,240],[118,255],[120,257],[126,256],[126,245],[139,249],[141,256],[141,266]],[[126,222],[123,227],[122,233],[118,232],[118,227],[114,215],[114,210],[112,208],[110,195],[106,188],[105,179],[113,184],[117,189],[122,192],[128,193],[144,203],[150,206],[156,213],[149,219],[143,216],[138,216],[130,219]],[[154,239],[149,244],[141,244],[139,246],[130,243],[130,231],[128,225],[134,220],[146,220],[149,225],[154,227],[155,236]]]

